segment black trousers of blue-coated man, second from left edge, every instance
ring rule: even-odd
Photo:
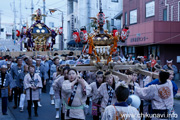
[[[19,106],[22,90],[21,88],[16,87],[16,88],[13,88],[13,91],[14,91],[14,105]]]

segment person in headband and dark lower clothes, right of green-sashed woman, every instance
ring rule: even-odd
[[[98,93],[98,88],[101,86],[101,84],[104,82],[104,73],[103,71],[97,71],[96,72],[96,82],[93,82],[90,84],[92,88],[91,95],[92,96],[92,115],[93,115],[93,120],[99,120],[101,117],[101,112],[100,112],[100,105],[101,105],[101,98],[96,99],[96,95]]]

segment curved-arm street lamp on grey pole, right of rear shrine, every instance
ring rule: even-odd
[[[63,50],[63,41],[64,41],[64,34],[63,34],[63,11],[61,11],[61,10],[59,10],[59,9],[57,9],[57,8],[55,8],[55,9],[49,9],[49,11],[50,11],[50,13],[54,13],[55,11],[59,11],[59,12],[61,12],[62,13],[62,39],[61,39],[61,41],[59,41],[59,49],[60,50]]]

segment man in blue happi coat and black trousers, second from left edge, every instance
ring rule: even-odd
[[[20,101],[20,84],[19,84],[19,81],[18,81],[18,75],[24,70],[24,67],[22,65],[22,58],[17,58],[17,65],[14,65],[11,69],[11,75],[12,75],[12,78],[14,79],[14,81],[16,82],[16,85],[17,87],[16,88],[13,88],[13,91],[14,91],[14,106],[13,108],[16,109],[18,104],[19,104],[19,101]],[[19,97],[18,97],[19,96]]]

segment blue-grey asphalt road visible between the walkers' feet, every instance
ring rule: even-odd
[[[179,85],[180,81],[178,81],[178,85]],[[42,107],[38,108],[38,114],[39,117],[33,117],[33,120],[56,120],[55,119],[55,108],[54,105],[50,104],[50,96],[48,93],[43,93],[42,94]],[[174,100],[175,103],[175,111],[178,114],[178,116],[180,116],[180,100]],[[19,111],[19,109],[13,109],[13,102],[9,103],[9,109],[12,113],[12,115],[14,116],[14,118],[16,120],[27,120],[28,118],[28,111],[27,109],[25,109],[25,111],[23,113],[21,113]],[[26,107],[27,108],[27,103],[26,103]],[[34,115],[34,111],[32,110],[32,116]],[[177,120],[179,120],[180,117],[177,118]],[[3,119],[2,119],[3,120]],[[6,120],[6,119],[4,119]],[[9,120],[9,119],[7,119]],[[11,119],[10,119],[11,120]],[[92,120],[91,116],[87,116],[87,120]]]

